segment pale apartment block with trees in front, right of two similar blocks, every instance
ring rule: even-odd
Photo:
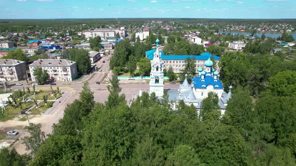
[[[77,65],[75,61],[67,59],[38,59],[29,65],[33,81],[35,81],[34,70],[37,67],[47,70],[49,80],[71,81],[77,77]]]

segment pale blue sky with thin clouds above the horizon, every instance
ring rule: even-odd
[[[296,18],[296,0],[0,0],[5,18]]]

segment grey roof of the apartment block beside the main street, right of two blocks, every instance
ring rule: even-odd
[[[76,63],[68,59],[38,59],[29,66],[70,66]]]

